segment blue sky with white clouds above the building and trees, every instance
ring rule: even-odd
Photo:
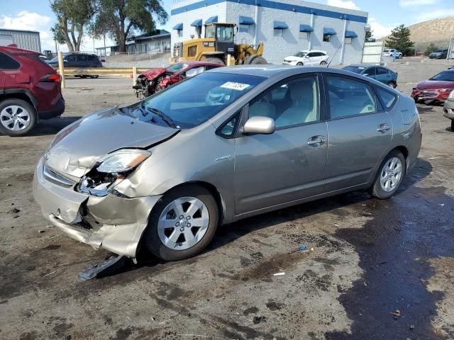
[[[173,0],[162,0],[164,8],[170,13]],[[375,38],[388,35],[392,28],[419,23],[433,18],[454,16],[454,0],[311,0],[343,8],[358,9],[369,13],[369,23]],[[49,0],[0,0],[0,28],[17,30],[38,30],[43,50],[55,50],[50,27],[56,18],[50,9]],[[170,30],[170,23],[158,26]],[[106,45],[114,45],[108,39]],[[103,47],[101,40],[94,41],[95,47]],[[66,51],[66,45],[60,45]],[[82,49],[93,50],[92,38],[84,38]]]

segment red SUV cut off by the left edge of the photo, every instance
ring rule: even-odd
[[[0,132],[22,136],[65,111],[60,75],[40,53],[0,46]]]

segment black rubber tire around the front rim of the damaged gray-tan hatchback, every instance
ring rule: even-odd
[[[164,210],[167,205],[172,203],[172,201],[176,200],[177,198],[186,196],[197,198],[204,203],[209,213],[209,225],[204,236],[198,243],[194,244],[194,246],[191,246],[190,248],[184,250],[170,249],[162,243],[159,237],[157,231],[157,222],[160,218],[162,210]],[[214,197],[208,190],[206,190],[206,188],[196,186],[194,184],[179,186],[165,193],[162,199],[153,208],[149,218],[148,227],[145,230],[145,234],[143,235],[143,242],[146,244],[149,251],[165,261],[179,261],[188,259],[189,257],[199,254],[211,242],[211,239],[213,239],[218,227],[218,222],[218,205]]]

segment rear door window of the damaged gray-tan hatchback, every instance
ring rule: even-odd
[[[377,112],[375,94],[367,84],[341,77],[327,79],[331,118]]]

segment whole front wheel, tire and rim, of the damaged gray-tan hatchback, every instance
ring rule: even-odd
[[[166,193],[153,208],[144,241],[160,259],[187,259],[211,242],[218,219],[216,200],[206,188],[181,186]]]

